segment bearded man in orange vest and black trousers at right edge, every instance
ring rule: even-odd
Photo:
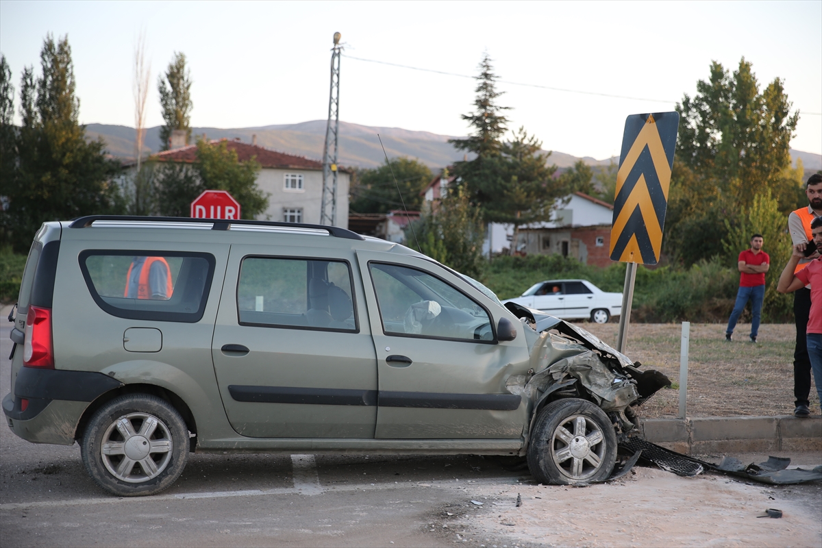
[[[787,230],[791,233],[794,246],[810,242],[810,223],[822,216],[822,175],[815,173],[805,183],[805,195],[808,206],[801,207],[787,216]],[[796,265],[794,274],[804,269],[819,255],[803,257]],[[806,347],[806,330],[810,314],[810,286],[797,289],[793,293],[793,317],[797,322],[797,344],[793,348],[793,397],[796,417],[807,417],[809,414],[808,395],[810,394],[810,358]]]

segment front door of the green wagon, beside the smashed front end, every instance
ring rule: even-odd
[[[357,256],[379,371],[376,438],[519,438],[526,403],[505,386],[529,357],[522,338],[496,341],[496,305],[427,260]]]

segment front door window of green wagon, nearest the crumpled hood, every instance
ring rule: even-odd
[[[494,340],[490,315],[459,289],[423,270],[370,263],[387,335]]]

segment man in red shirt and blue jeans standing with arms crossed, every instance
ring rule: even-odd
[[[739,254],[739,291],[737,292],[737,304],[733,307],[731,318],[727,320],[725,339],[730,341],[733,328],[737,326],[739,315],[745,310],[745,305],[750,301],[750,309],[753,318],[750,320],[750,342],[756,342],[756,335],[760,329],[760,315],[762,314],[762,301],[765,297],[765,273],[770,268],[770,257],[762,251],[762,234],[754,234],[750,237],[750,249],[746,249]]]

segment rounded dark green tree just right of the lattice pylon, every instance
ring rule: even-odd
[[[423,204],[419,193],[431,180],[431,169],[415,159],[395,158],[379,168],[361,169],[351,185],[350,209],[357,213],[388,213],[402,209],[404,200],[409,210],[419,211]],[[403,200],[397,194],[398,186]]]

